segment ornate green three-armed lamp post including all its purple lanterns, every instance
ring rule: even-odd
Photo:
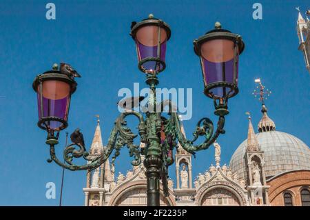
[[[220,23],[216,29],[207,32],[194,41],[194,51],[200,58],[205,85],[205,95],[214,100],[215,114],[218,123],[214,124],[208,118],[198,121],[193,139],[186,139],[180,130],[178,113],[172,106],[172,101],[156,102],[157,74],[165,70],[165,52],[171,31],[167,23],[154,18],[152,14],[141,22],[132,22],[130,32],[136,43],[138,69],[146,74],[146,83],[150,94],[147,103],[148,110],[143,115],[134,110],[121,113],[114,123],[114,128],[107,141],[105,152],[98,157],[89,159],[88,152],[81,143],[71,143],[63,151],[64,163],[56,157],[54,146],[58,143],[59,132],[68,126],[68,113],[71,95],[76,90],[74,79],[52,70],[39,74],[34,79],[33,88],[37,92],[39,109],[39,128],[47,130],[46,143],[50,146],[50,159],[59,166],[69,170],[94,170],[101,166],[114,151],[112,163],[119,155],[123,146],[127,146],[133,166],[141,163],[141,154],[145,155],[144,166],[147,177],[147,206],[159,206],[160,179],[164,194],[167,196],[167,167],[173,160],[173,149],[177,141],[187,152],[194,154],[205,150],[214,143],[220,134],[224,134],[225,115],[228,114],[227,101],[238,93],[238,57],[244,43],[238,34],[223,30]],[[56,68],[55,68],[56,69]],[[169,118],[162,115],[165,106],[169,107]],[[138,119],[138,134],[134,134],[125,118],[134,115]],[[140,136],[145,143],[142,150],[134,143]],[[198,137],[204,137],[203,143],[194,144]],[[78,166],[74,158],[83,157],[87,164]]]

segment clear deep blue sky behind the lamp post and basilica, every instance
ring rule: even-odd
[[[223,28],[241,34],[245,51],[240,56],[238,96],[229,100],[230,114],[218,142],[222,161],[247,137],[250,111],[254,126],[261,117],[254,99],[254,79],[260,77],[273,94],[267,100],[269,116],[276,129],[302,139],[308,146],[310,74],[298,51],[295,10],[305,11],[309,1],[258,1],[262,20],[252,19],[257,1],[52,1],[56,20],[45,19],[49,1],[1,1],[0,3],[0,205],[57,206],[61,168],[47,163],[45,132],[37,128],[37,99],[34,77],[53,63],[68,62],[81,79],[72,97],[68,132],[81,128],[90,146],[101,115],[106,143],[114,119],[120,88],[143,88],[144,75],[136,68],[136,51],[129,35],[130,23],[153,13],[169,23],[172,37],[167,44],[167,68],[159,75],[161,88],[192,88],[193,117],[185,121],[187,137],[196,122],[210,117],[216,123],[211,99],[203,94],[203,79],[192,41],[220,21]],[[56,150],[61,157],[65,131]],[[214,163],[214,149],[198,152],[193,162],[194,177]],[[127,149],[116,161],[116,172],[130,168]],[[175,170],[171,169],[174,178]],[[45,183],[56,183],[56,199],[45,198]],[[81,206],[85,172],[65,172],[63,205]]]

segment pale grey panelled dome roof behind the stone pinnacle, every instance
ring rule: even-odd
[[[291,170],[310,170],[309,147],[297,137],[278,131],[260,132],[256,138],[265,155],[265,174],[272,177]],[[247,139],[234,152],[230,161],[231,171],[239,178],[247,177],[245,150]]]

